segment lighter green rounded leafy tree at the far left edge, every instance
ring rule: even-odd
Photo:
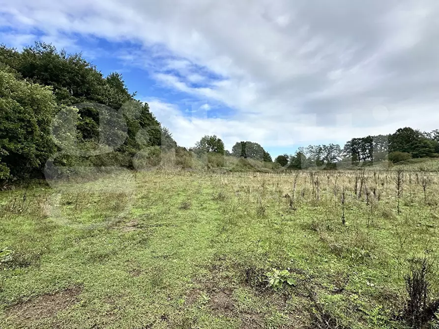
[[[0,71],[1,171],[9,171],[16,178],[41,173],[55,151],[51,138],[55,111],[50,87],[17,80],[13,74]]]

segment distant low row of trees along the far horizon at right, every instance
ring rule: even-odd
[[[272,162],[263,147],[251,141],[239,141],[232,152],[224,149],[221,138],[205,136],[189,149],[197,154],[214,152],[238,158]],[[295,154],[282,154],[274,162],[290,169],[309,167],[336,168],[336,164],[368,165],[388,160],[392,163],[412,158],[439,157],[439,129],[421,132],[410,127],[399,128],[393,134],[351,138],[343,148],[338,144],[299,147]]]

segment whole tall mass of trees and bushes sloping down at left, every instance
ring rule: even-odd
[[[104,77],[82,54],[45,43],[21,52],[1,45],[0,70],[1,180],[39,174],[57,151],[58,165],[132,167],[131,159],[142,148],[176,147],[148,104],[134,99],[121,74]]]

